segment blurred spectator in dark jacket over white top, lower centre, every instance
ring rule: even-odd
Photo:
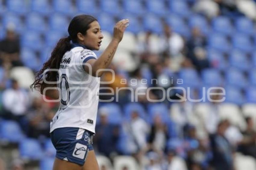
[[[149,145],[157,153],[162,154],[166,146],[167,138],[167,126],[163,123],[161,116],[158,114],[154,117],[154,122],[151,126],[151,132],[148,140]]]

